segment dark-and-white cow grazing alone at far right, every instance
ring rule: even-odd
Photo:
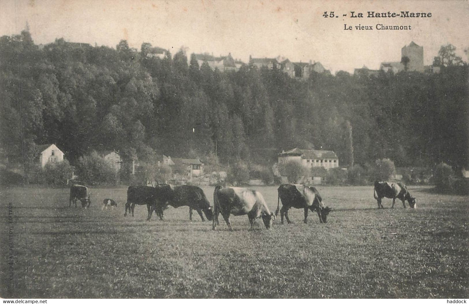
[[[375,181],[373,196],[375,200],[378,201],[378,209],[384,209],[383,204],[381,204],[381,199],[384,197],[393,199],[393,206],[391,208],[394,208],[396,199],[400,199],[402,201],[402,206],[404,206],[404,208],[406,208],[406,200],[408,201],[410,208],[417,208],[415,198],[407,191],[406,185],[401,183]]]

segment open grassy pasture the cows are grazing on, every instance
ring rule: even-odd
[[[277,208],[277,187],[253,187]],[[417,209],[378,210],[373,187],[318,187],[333,208],[271,230],[247,216],[233,232],[189,208],[124,218],[126,187],[91,189],[89,209],[68,189],[1,188],[0,297],[467,298],[468,197],[409,187]],[[204,187],[212,203],[213,187]],[[105,198],[120,203],[101,211]],[[9,209],[9,206],[12,207]],[[9,218],[9,210],[11,217]],[[262,226],[261,226],[262,225]],[[10,265],[9,265],[10,264]]]

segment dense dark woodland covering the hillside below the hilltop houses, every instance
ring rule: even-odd
[[[71,164],[101,149],[249,163],[298,147],[336,151],[342,165],[468,167],[467,65],[443,54],[439,74],[340,71],[298,81],[249,65],[213,71],[183,50],[151,58],[149,47],[57,39],[39,50],[27,31],[1,37],[3,156],[28,163],[35,144],[55,143]]]

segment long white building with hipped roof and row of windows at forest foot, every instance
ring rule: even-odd
[[[295,161],[301,163],[306,168],[323,167],[331,169],[339,167],[339,157],[337,157],[334,151],[294,148],[289,151],[282,151],[277,156],[279,164]]]

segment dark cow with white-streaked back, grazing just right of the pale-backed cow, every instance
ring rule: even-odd
[[[287,223],[291,223],[288,218],[288,209],[304,208],[304,223],[307,223],[308,209],[312,212],[318,213],[319,222],[327,222],[327,215],[331,212],[331,208],[324,207],[321,195],[315,187],[308,187],[306,185],[280,185],[277,190],[279,193],[277,199],[277,210],[275,215],[279,214],[280,200],[282,201],[282,208],[280,209],[280,222],[283,224],[283,215],[287,219]]]

